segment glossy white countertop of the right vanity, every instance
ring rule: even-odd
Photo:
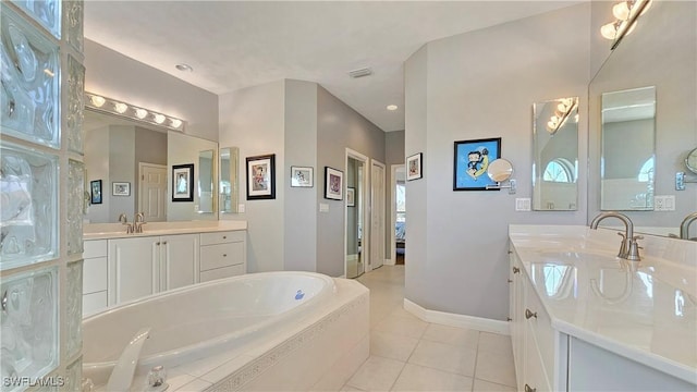
[[[697,243],[615,231],[511,225],[510,238],[552,328],[697,384]]]

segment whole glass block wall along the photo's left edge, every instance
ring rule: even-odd
[[[0,390],[82,377],[83,2],[0,3]]]

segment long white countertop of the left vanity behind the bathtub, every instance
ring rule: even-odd
[[[126,228],[121,223],[85,223],[83,224],[83,238],[110,240],[134,236],[209,233],[235,230],[247,230],[247,221],[147,222],[143,226],[143,233],[131,234],[126,234]]]

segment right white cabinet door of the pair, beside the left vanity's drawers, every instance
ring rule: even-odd
[[[160,250],[161,290],[172,290],[198,282],[198,234],[161,236]]]

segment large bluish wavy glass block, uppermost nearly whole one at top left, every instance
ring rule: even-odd
[[[0,9],[2,133],[60,147],[58,45],[5,3]]]

